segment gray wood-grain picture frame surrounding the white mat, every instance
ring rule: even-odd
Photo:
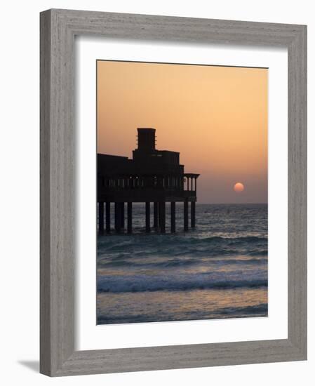
[[[80,375],[307,359],[307,27],[52,9],[41,13],[43,374]],[[288,48],[288,338],[74,350],[74,36]]]

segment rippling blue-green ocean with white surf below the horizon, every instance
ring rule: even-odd
[[[146,234],[133,204],[133,234],[98,237],[98,324],[267,317],[267,204],[197,203],[189,232],[182,213],[170,234],[166,204],[167,233]]]

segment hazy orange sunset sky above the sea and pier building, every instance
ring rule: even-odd
[[[98,153],[131,157],[137,128],[156,128],[156,148],[201,174],[199,203],[267,202],[268,69],[98,60],[97,71]]]

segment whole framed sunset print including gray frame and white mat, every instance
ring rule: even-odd
[[[41,373],[306,359],[306,44],[41,13]]]

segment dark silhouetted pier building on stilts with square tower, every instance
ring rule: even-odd
[[[166,202],[170,202],[170,231],[175,232],[175,203],[184,203],[184,230],[188,230],[188,205],[191,205],[191,227],[196,224],[196,180],[199,174],[184,173],[180,153],[157,150],[155,128],[138,128],[138,148],[133,159],[98,154],[98,218],[99,233],[111,232],[110,210],[114,203],[114,229],[133,226],[133,202],[145,203],[145,229],[150,232],[150,203],[153,204],[153,228],[166,232]],[[104,206],[106,216],[104,216]],[[104,222],[105,217],[105,222]]]

